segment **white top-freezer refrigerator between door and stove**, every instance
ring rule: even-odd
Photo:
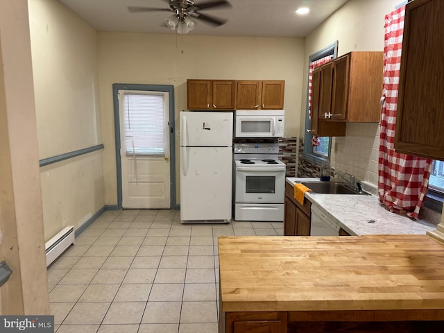
[[[228,223],[232,112],[180,112],[180,221]]]

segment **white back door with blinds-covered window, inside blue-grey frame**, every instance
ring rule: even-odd
[[[170,208],[168,95],[119,90],[123,208]]]

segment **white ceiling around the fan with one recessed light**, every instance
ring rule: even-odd
[[[130,13],[128,6],[169,8],[162,0],[58,0],[98,31],[175,33],[164,24],[171,12]],[[196,4],[214,0],[194,0]],[[207,15],[228,19],[223,26],[198,21],[193,35],[305,37],[348,0],[228,0],[232,8],[209,9]],[[299,7],[308,15],[296,15]]]

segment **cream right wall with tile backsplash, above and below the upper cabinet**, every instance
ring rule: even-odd
[[[395,9],[401,0],[350,0],[337,10],[305,40],[305,72],[302,105],[307,96],[308,58],[335,40],[339,41],[338,56],[350,51],[383,51],[384,16]],[[382,69],[381,69],[382,70]],[[382,87],[381,87],[382,91]],[[305,122],[305,113],[301,114]],[[300,135],[303,136],[303,130]],[[333,139],[332,167],[353,173],[357,178],[377,185],[377,153],[379,124],[348,123],[347,135]]]

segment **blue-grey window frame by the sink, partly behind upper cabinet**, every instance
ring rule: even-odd
[[[315,60],[318,60],[321,58],[325,58],[327,56],[333,56],[333,59],[337,58],[337,56],[338,56],[338,41],[337,40],[332,42],[332,44],[325,46],[323,49],[311,54],[311,56],[309,56],[308,69],[310,67],[311,62],[314,62]],[[308,74],[309,74],[309,71],[308,71]],[[307,78],[308,78],[308,76],[307,76]],[[302,152],[302,157],[304,157],[305,160],[307,160],[311,163],[321,165],[322,161],[325,160],[325,158],[330,160],[330,154],[332,151],[332,138],[329,137],[327,157],[314,152],[314,147],[311,146],[311,138],[313,136],[309,133],[311,123],[310,123],[310,119],[309,119],[308,102],[309,102],[309,80],[307,80],[307,102],[305,103],[304,151]]]

